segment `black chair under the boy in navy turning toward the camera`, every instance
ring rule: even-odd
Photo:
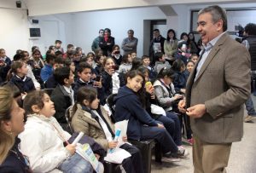
[[[114,101],[113,98],[117,94],[108,95],[108,98],[106,99],[107,105],[110,108],[112,112],[112,116],[114,114]],[[113,117],[112,117],[113,118]],[[113,118],[114,119],[114,118]],[[161,163],[161,148],[160,143],[154,141],[154,139],[150,140],[143,140],[143,141],[136,141],[136,140],[128,140],[131,142],[132,145],[137,147],[143,156],[143,168],[145,170],[145,173],[151,172],[151,158],[152,158],[152,148],[155,148],[155,161]]]

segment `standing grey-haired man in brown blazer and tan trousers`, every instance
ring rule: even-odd
[[[250,55],[226,33],[224,9],[201,9],[197,25],[204,50],[189,76],[186,99],[178,108],[190,117],[194,172],[225,172],[231,144],[241,141],[243,135],[243,104],[250,95]]]

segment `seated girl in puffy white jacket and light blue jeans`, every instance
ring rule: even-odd
[[[20,150],[28,156],[33,172],[93,172],[91,164],[75,153],[71,137],[53,117],[55,106],[44,91],[34,91],[24,100],[27,121],[20,134]],[[66,143],[64,147],[63,143]]]

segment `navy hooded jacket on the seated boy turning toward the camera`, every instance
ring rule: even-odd
[[[134,91],[124,86],[119,89],[118,95],[114,97],[116,122],[129,119],[127,127],[127,137],[131,140],[140,140],[142,138],[142,127],[157,126],[156,121],[150,117],[143,108],[141,101]]]

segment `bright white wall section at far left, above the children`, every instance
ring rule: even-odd
[[[26,9],[0,8],[0,48],[12,59],[16,49],[28,49]]]

